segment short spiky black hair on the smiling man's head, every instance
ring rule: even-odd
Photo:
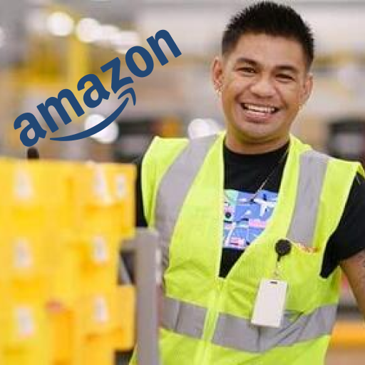
[[[222,36],[222,55],[234,51],[244,34],[267,34],[297,41],[304,51],[307,68],[314,58],[314,36],[309,25],[290,6],[260,1],[230,19]]]

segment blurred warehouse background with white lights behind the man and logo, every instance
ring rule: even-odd
[[[223,128],[222,112],[210,81],[210,63],[230,16],[251,1],[236,0],[0,0],[0,154],[24,157],[14,130],[22,113],[34,113],[46,138],[36,147],[43,158],[130,162],[143,154],[154,135],[202,135]],[[317,41],[314,93],[302,109],[293,133],[314,148],[365,163],[365,1],[287,1],[307,19]],[[161,44],[169,62],[155,58],[153,72],[133,76],[125,64],[132,46],[166,29],[182,55]],[[91,128],[119,105],[110,94],[72,123],[51,133],[36,106],[69,88],[83,105],[78,80],[95,73],[111,91],[111,71],[101,66],[115,57],[120,77],[133,76],[137,98],[115,123],[91,138],[58,142],[49,138]],[[67,104],[67,103],[66,103]],[[24,123],[26,125],[26,122]],[[21,128],[23,129],[23,128]],[[364,364],[365,344],[356,340],[362,326],[344,282],[339,319],[344,338],[334,343],[328,364]],[[351,327],[354,325],[354,327]]]

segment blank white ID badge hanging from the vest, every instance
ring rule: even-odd
[[[287,296],[287,282],[262,279],[255,301],[251,323],[256,326],[280,327]]]

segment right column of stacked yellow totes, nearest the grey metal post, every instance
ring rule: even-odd
[[[118,297],[120,237],[134,227],[130,166],[86,164],[75,180],[76,241],[82,257],[77,333],[80,364],[114,364],[115,331],[123,324]],[[125,314],[124,314],[125,315]]]

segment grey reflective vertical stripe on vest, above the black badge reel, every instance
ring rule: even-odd
[[[307,247],[311,247],[313,242],[319,197],[328,162],[329,156],[314,150],[308,150],[300,155],[297,198],[287,238]]]

